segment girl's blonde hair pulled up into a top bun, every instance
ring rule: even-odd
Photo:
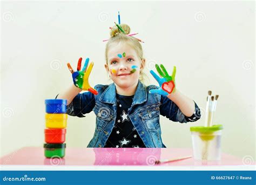
[[[105,49],[105,60],[106,64],[107,63],[107,53],[109,52],[109,49],[112,45],[116,45],[116,43],[125,43],[129,44],[137,53],[138,57],[142,60],[143,58],[143,49],[142,45],[139,43],[138,39],[130,36],[126,36],[130,33],[130,26],[127,24],[120,24],[121,28],[123,29],[124,33],[119,31],[117,26],[113,26],[112,29],[110,30],[110,39],[106,44],[106,49]],[[144,64],[145,65],[145,64]],[[140,72],[139,80],[145,83],[145,78],[149,80],[149,78],[146,76],[146,74],[143,72],[144,68]]]

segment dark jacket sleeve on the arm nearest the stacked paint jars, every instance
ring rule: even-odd
[[[95,96],[88,91],[77,94],[72,102],[66,106],[66,113],[73,117],[83,118],[85,117],[83,114],[90,113],[93,107],[95,107]]]

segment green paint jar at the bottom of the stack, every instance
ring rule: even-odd
[[[44,143],[44,156],[47,158],[64,157],[66,143]]]

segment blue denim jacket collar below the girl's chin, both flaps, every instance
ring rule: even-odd
[[[102,102],[105,102],[105,103],[115,104],[116,100],[117,100],[116,99],[116,85],[114,85],[114,83],[110,84],[106,88],[104,93],[101,95],[99,100]],[[142,104],[146,100],[147,100],[146,87],[144,84],[142,84],[140,82],[140,80],[138,80],[138,85],[137,85],[131,106],[133,106],[135,104]]]

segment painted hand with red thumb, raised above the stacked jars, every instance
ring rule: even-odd
[[[73,83],[76,87],[78,87],[84,91],[90,91],[92,94],[97,95],[98,92],[90,86],[89,81],[88,81],[92,67],[93,67],[93,62],[91,62],[91,64],[87,68],[87,66],[89,64],[89,58],[86,58],[84,67],[83,67],[82,71],[80,71],[81,63],[82,63],[82,58],[79,58],[78,63],[77,63],[77,71],[76,72],[74,72],[70,63],[67,64],[69,71],[72,73]]]

